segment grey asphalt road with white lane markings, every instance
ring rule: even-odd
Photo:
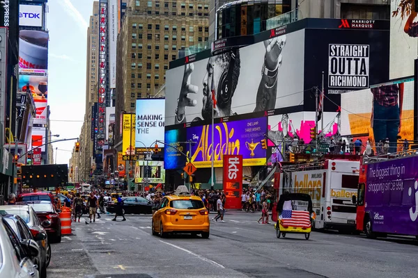
[[[48,277],[418,277],[411,238],[312,232],[309,240],[278,239],[258,217],[228,213],[226,222],[211,223],[209,239],[152,236],[150,215],[73,223],[74,235],[52,245]]]

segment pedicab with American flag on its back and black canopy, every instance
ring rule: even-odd
[[[311,235],[312,199],[304,193],[284,193],[277,203],[277,222],[274,224],[276,236],[304,234],[308,240]]]

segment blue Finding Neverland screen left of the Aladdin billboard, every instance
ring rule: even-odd
[[[185,142],[186,129],[172,129],[164,134],[164,142],[169,146],[164,149],[164,168],[167,170],[180,169],[186,165],[185,145],[179,142]],[[179,152],[180,151],[180,152]],[[181,154],[183,152],[183,154]]]

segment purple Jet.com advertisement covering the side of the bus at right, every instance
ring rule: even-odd
[[[418,157],[371,163],[365,210],[373,231],[418,235]]]

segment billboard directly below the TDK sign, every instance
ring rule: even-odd
[[[22,69],[47,70],[48,41],[48,32],[20,30],[19,67]]]

